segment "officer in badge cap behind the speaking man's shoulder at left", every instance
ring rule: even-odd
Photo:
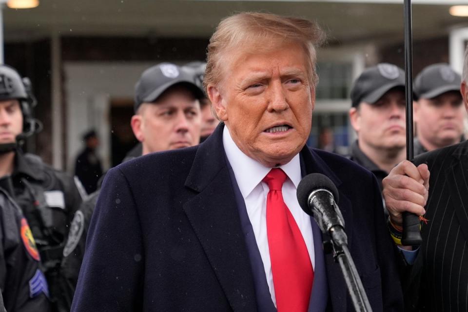
[[[201,128],[199,101],[203,91],[192,72],[172,63],[160,63],[143,72],[135,86],[135,115],[131,125],[141,145],[125,157],[129,161],[153,152],[198,144]],[[91,194],[77,211],[63,250],[61,284],[65,294],[60,311],[69,311],[78,282],[91,216],[99,191]],[[118,231],[118,229],[116,229]]]

